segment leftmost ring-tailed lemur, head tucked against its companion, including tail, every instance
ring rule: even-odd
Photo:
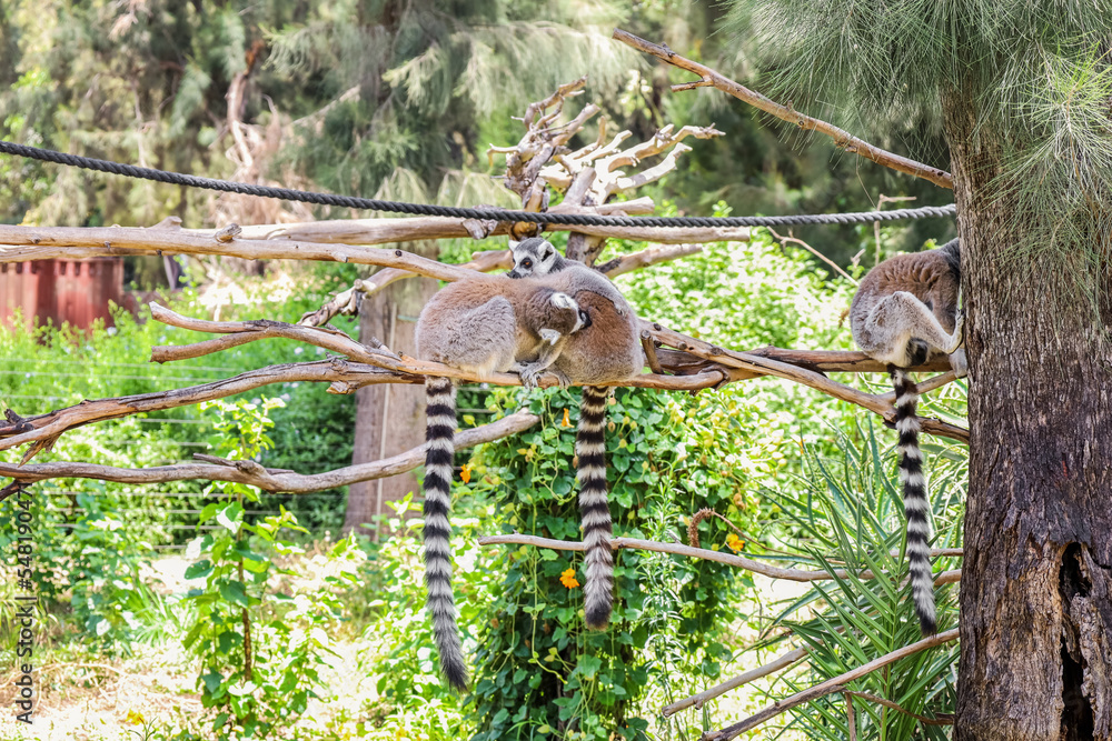
[[[450,283],[438,291],[417,319],[417,354],[480,379],[494,371],[516,371],[535,385],[566,346],[587,326],[586,312],[567,293],[540,281],[483,277]],[[562,380],[563,382],[563,380]],[[464,689],[467,667],[456,627],[451,593],[451,504],[456,387],[450,379],[427,377],[425,454],[426,607],[448,682]]]

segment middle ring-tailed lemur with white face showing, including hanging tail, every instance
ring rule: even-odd
[[[606,404],[610,388],[645,367],[637,316],[608,278],[568,260],[540,238],[514,248],[512,278],[546,276],[547,284],[575,298],[590,328],[568,339],[553,368],[583,384],[575,453],[578,458],[579,514],[585,547],[584,615],[588,628],[606,628],[614,609],[613,524],[606,490]]]

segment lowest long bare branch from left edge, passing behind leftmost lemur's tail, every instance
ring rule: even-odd
[[[456,449],[460,450],[500,440],[510,434],[523,432],[539,421],[540,418],[536,414],[525,411],[516,412],[496,422],[457,432],[455,437]],[[44,479],[98,479],[120,483],[150,484],[200,479],[202,481],[234,481],[258,487],[266,491],[301,494],[411,471],[425,463],[427,447],[426,443],[379,461],[312,474],[267,469],[251,460],[231,461],[205,455],[203,460],[212,461],[215,464],[182,463],[146,469],[122,469],[72,462],[32,463],[22,467],[0,463],[0,475],[11,477],[24,483]]]

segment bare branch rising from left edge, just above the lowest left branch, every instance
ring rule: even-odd
[[[177,407],[187,407],[201,401],[224,399],[236,393],[251,391],[272,383],[312,381],[331,383],[329,391],[349,393],[370,383],[424,383],[419,375],[393,373],[381,368],[364,363],[351,363],[339,358],[307,363],[270,366],[240,373],[229,379],[210,383],[140,393],[113,399],[82,401],[46,414],[18,418],[9,414],[8,423],[0,424],[0,450],[8,450],[24,443],[51,440],[61,433],[92,422],[119,419],[141,412],[153,412]],[[11,410],[9,410],[10,412]]]

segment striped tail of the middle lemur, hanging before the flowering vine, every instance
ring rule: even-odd
[[[587,628],[602,630],[614,609],[614,554],[610,552],[610,507],[606,498],[606,402],[605,385],[583,387],[579,429],[575,454],[579,459],[579,515],[585,548],[584,580]]]

